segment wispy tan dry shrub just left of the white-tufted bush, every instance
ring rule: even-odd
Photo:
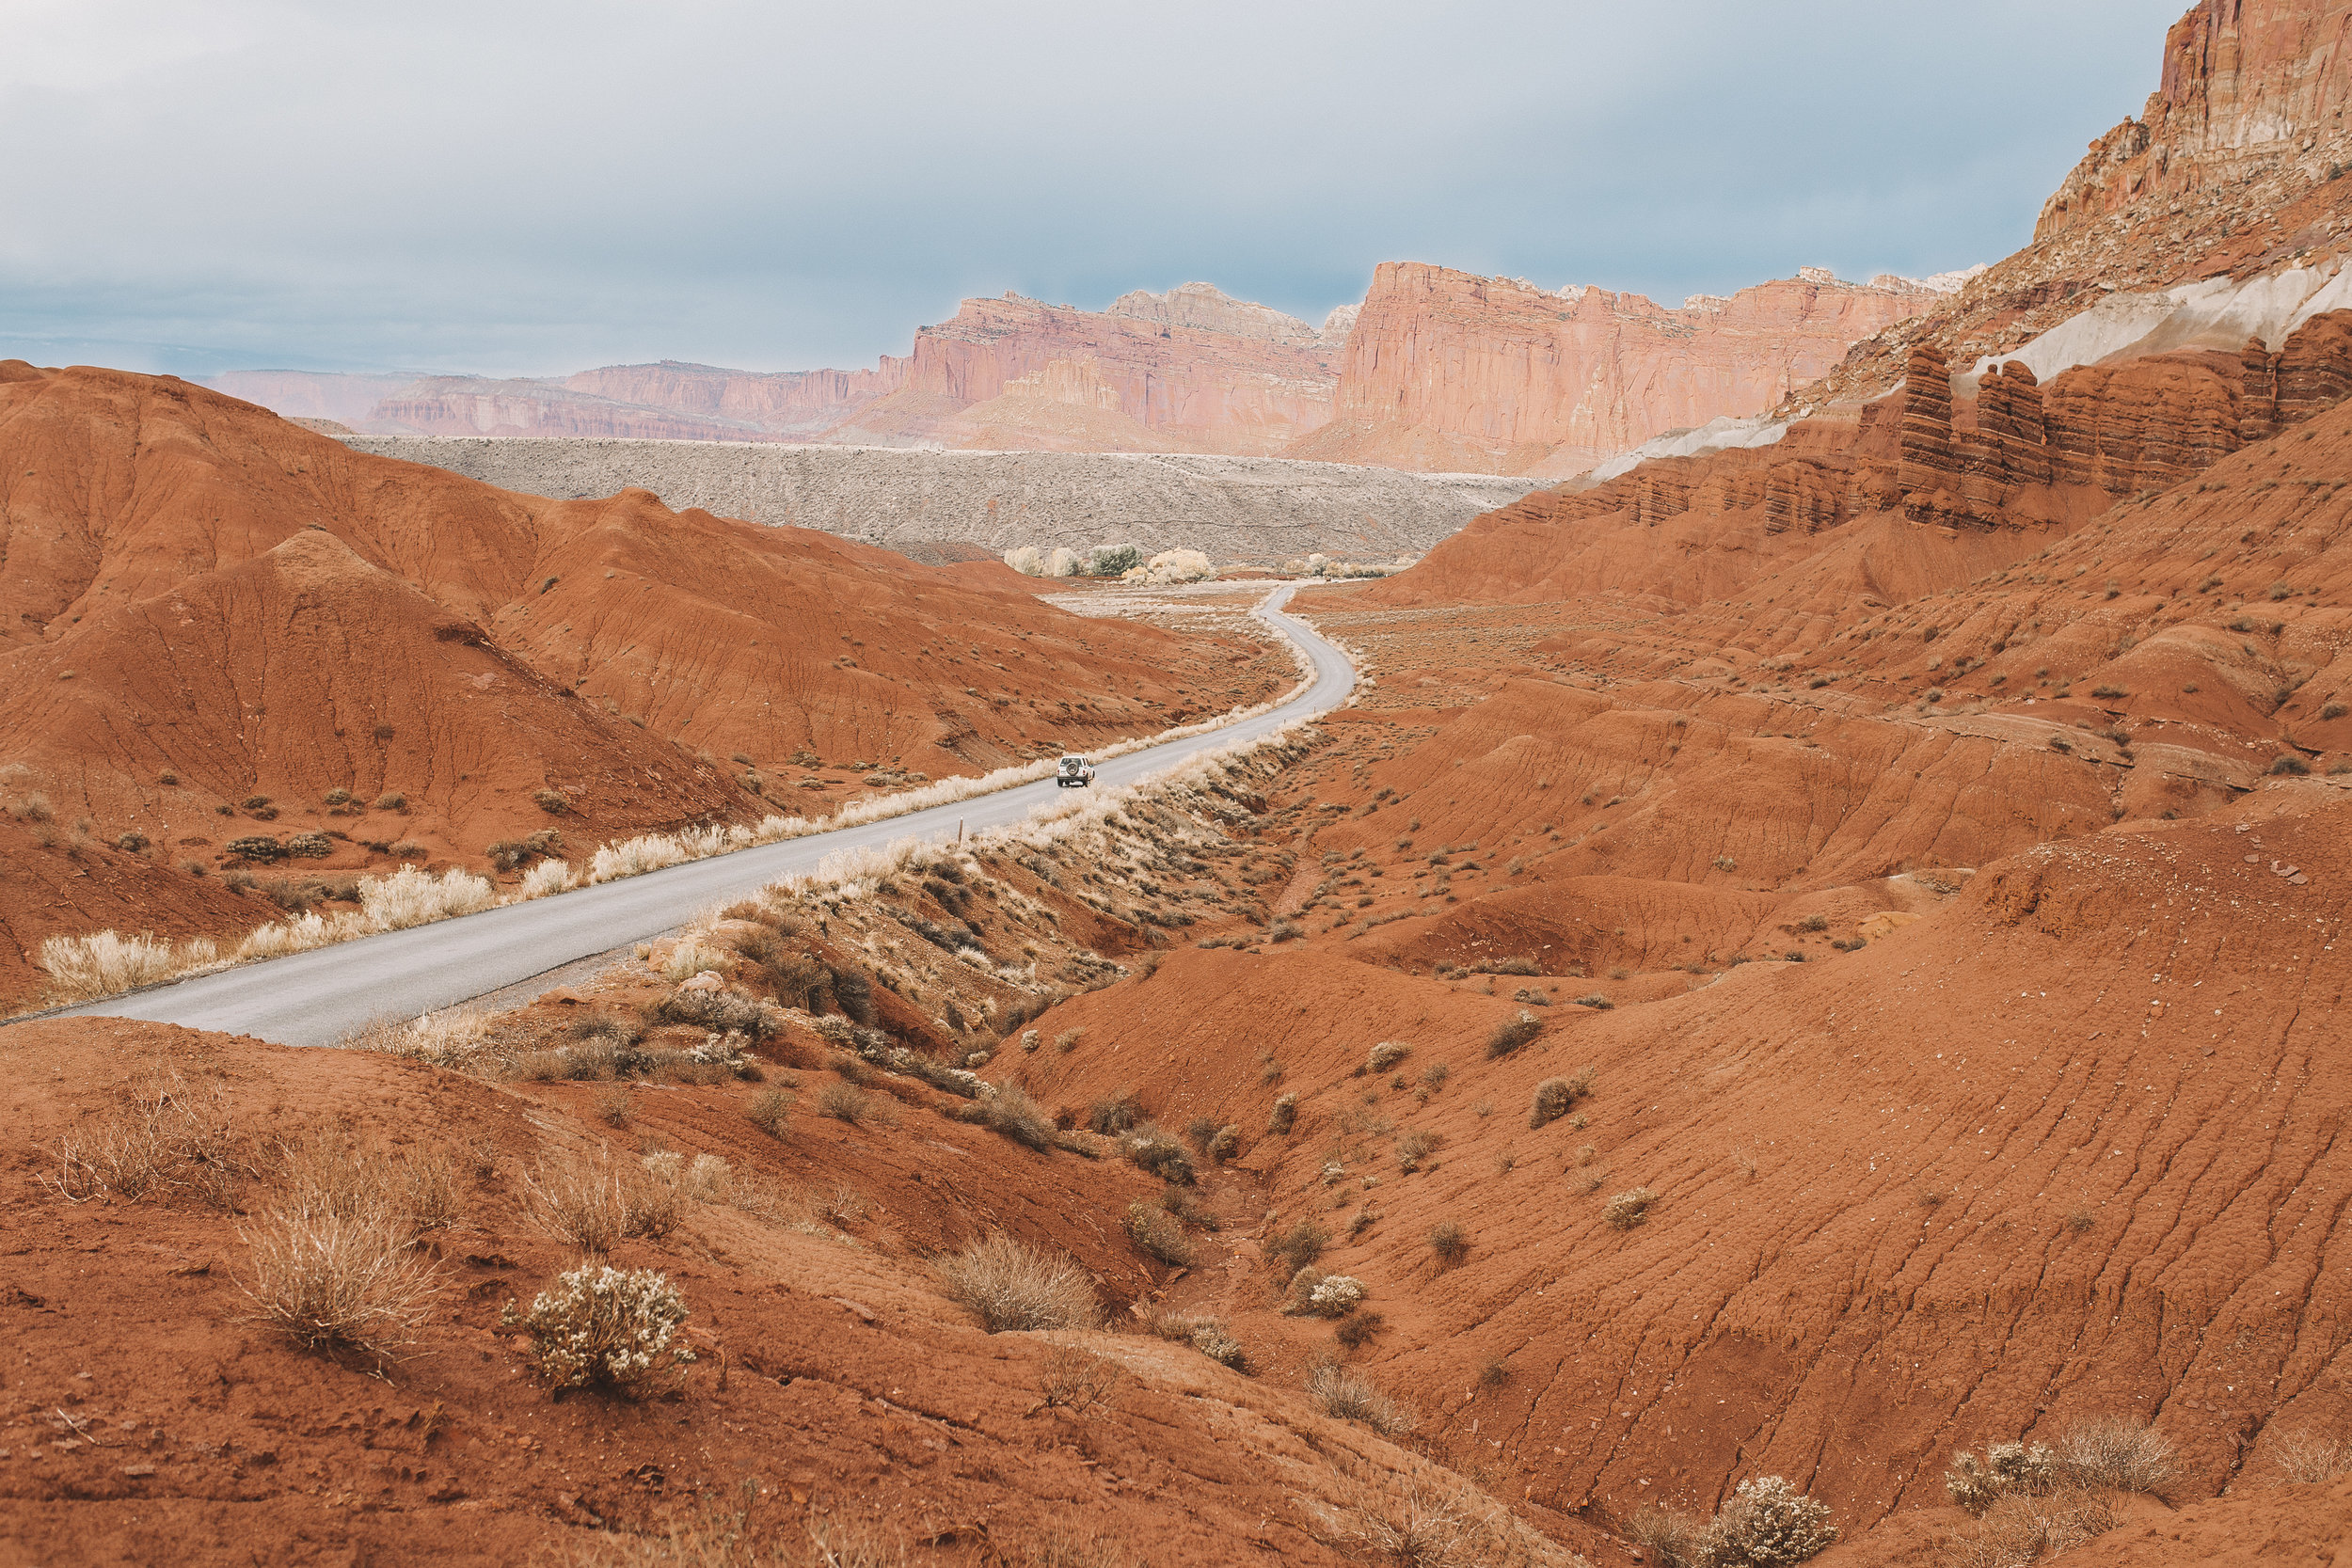
[[[409,1345],[440,1291],[381,1211],[358,1213],[289,1199],[240,1229],[252,1246],[254,1319],[313,1349],[383,1356]]]

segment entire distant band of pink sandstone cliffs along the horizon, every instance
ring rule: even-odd
[[[1108,310],[967,299],[910,355],[863,371],[663,360],[560,381],[240,371],[219,386],[372,435],[1190,451],[1564,477],[1661,430],[1762,411],[1936,289],[1806,268],[1665,310],[1385,263],[1362,306],[1319,327],[1188,282]]]

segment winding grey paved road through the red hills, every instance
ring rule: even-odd
[[[1096,766],[1096,785],[1134,783],[1197,752],[1263,736],[1343,703],[1355,689],[1355,668],[1301,621],[1282,614],[1289,595],[1289,588],[1277,588],[1258,607],[1258,616],[1308,651],[1315,661],[1312,686],[1256,719],[1103,762]],[[743,898],[779,877],[816,870],[816,863],[837,849],[898,839],[953,842],[957,823],[967,832],[1002,827],[1056,797],[1058,788],[1044,778],[863,827],[762,844],[433,926],[242,964],[66,1011],[155,1018],[193,1030],[254,1034],[287,1046],[322,1046],[374,1018],[416,1018],[520,985],[576,959],[675,931],[703,910]]]

